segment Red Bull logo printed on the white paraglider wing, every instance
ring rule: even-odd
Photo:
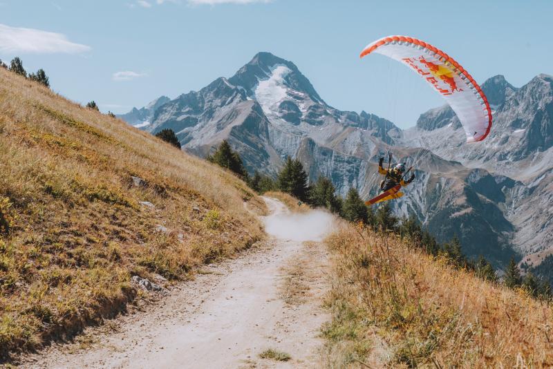
[[[457,83],[455,82],[455,73],[444,64],[433,63],[424,59],[422,56],[418,59],[404,57],[402,60],[416,70],[422,77],[426,78],[442,95],[451,95],[456,91],[462,91],[461,88],[457,87]]]

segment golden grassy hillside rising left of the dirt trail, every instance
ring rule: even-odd
[[[186,278],[263,234],[241,180],[3,68],[0,173],[0,356],[118,312],[133,274]]]

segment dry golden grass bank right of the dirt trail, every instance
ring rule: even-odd
[[[553,366],[552,308],[525,292],[453,269],[395,235],[348,226],[327,242],[335,253],[329,365]]]

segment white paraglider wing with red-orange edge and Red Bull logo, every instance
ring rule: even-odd
[[[482,89],[469,73],[446,53],[406,36],[384,37],[368,44],[360,57],[379,53],[401,61],[426,79],[455,111],[467,142],[482,141],[491,129],[491,110]]]

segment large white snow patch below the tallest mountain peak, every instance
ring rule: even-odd
[[[291,72],[287,66],[275,66],[269,79],[259,81],[254,95],[263,113],[277,115],[279,103],[288,96],[284,77]]]

